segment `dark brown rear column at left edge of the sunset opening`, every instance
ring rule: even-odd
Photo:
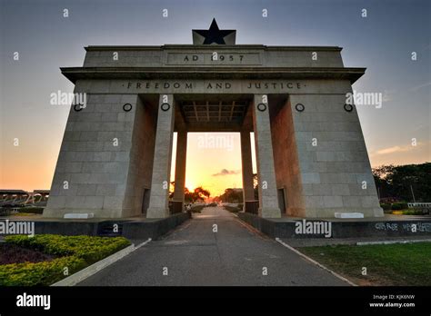
[[[187,132],[178,131],[176,137],[174,212],[184,211],[185,160],[187,155]]]

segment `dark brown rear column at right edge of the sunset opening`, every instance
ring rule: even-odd
[[[244,212],[253,212],[255,190],[253,188],[253,163],[250,132],[241,131],[241,163],[243,173]]]

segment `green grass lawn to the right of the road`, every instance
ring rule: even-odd
[[[298,250],[358,285],[431,285],[431,242]]]

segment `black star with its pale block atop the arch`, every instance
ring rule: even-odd
[[[220,30],[213,19],[209,30],[192,30],[193,44],[235,44],[236,30]]]

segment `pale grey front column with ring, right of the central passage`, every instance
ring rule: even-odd
[[[271,140],[269,107],[266,95],[255,94],[253,126],[255,129],[257,179],[259,181],[259,216],[281,217],[276,193],[276,173]]]

